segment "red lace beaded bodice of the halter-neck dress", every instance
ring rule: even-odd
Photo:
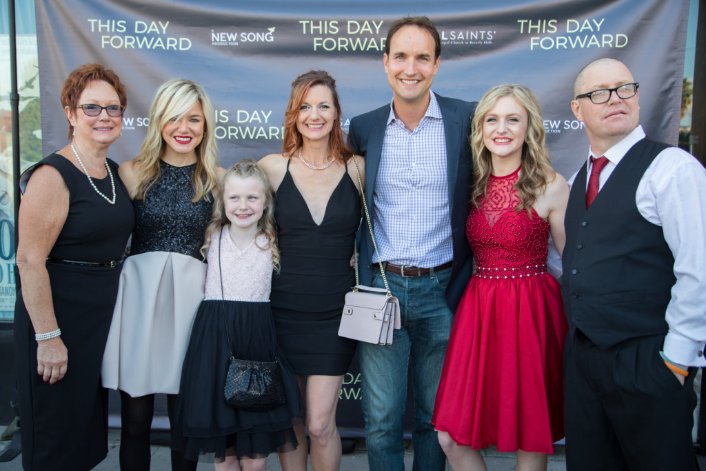
[[[536,211],[517,211],[520,197],[513,188],[517,169],[505,177],[491,177],[480,208],[471,207],[466,237],[482,278],[510,278],[546,273],[549,222]]]

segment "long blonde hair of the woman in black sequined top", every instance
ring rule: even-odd
[[[136,198],[143,199],[155,181],[160,179],[160,158],[167,143],[162,138],[162,129],[168,121],[181,119],[196,102],[201,103],[205,120],[204,136],[196,146],[196,170],[193,172],[193,203],[201,198],[210,201],[211,191],[218,182],[218,148],[215,139],[214,110],[203,87],[184,78],[172,78],[157,90],[150,107],[150,124],[140,153],[133,158],[137,175]]]

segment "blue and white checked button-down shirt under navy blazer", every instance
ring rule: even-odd
[[[373,189],[373,230],[382,261],[431,268],[453,258],[446,139],[436,96],[410,132],[390,117]],[[373,254],[373,262],[378,258]]]

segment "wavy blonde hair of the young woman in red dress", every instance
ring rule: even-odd
[[[486,114],[502,97],[514,97],[527,111],[527,134],[522,145],[522,161],[520,178],[515,183],[520,204],[516,210],[532,210],[537,196],[544,193],[546,184],[554,180],[554,169],[549,159],[549,149],[546,148],[542,108],[539,100],[530,88],[514,83],[503,83],[492,87],[481,98],[476,107],[471,125],[471,150],[474,160],[474,186],[471,192],[471,204],[478,207],[479,200],[486,192],[488,179],[493,168],[491,153],[483,143],[483,122]]]

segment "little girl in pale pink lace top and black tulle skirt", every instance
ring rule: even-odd
[[[265,470],[267,455],[297,448],[297,380],[276,345],[270,280],[279,262],[273,191],[251,159],[231,167],[206,230],[205,299],[196,314],[174,411],[172,449],[198,460],[214,453],[216,470]],[[228,359],[280,362],[287,403],[267,412],[223,400]],[[304,444],[306,446],[306,443]]]

